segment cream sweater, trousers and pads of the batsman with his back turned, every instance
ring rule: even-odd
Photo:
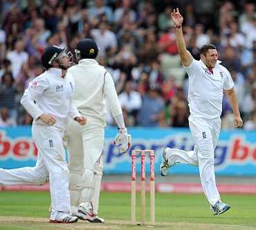
[[[104,147],[104,117],[107,113],[105,99],[113,117],[122,115],[122,108],[111,75],[95,59],[80,60],[77,66],[68,69],[68,73],[76,85],[73,102],[87,119],[83,127],[68,120],[71,207],[90,202],[89,193],[93,193],[93,211],[97,214],[103,169],[100,156]]]

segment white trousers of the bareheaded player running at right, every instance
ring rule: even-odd
[[[194,139],[194,151],[171,148],[168,159],[172,164],[192,164],[199,166],[201,184],[206,198],[214,205],[220,200],[215,182],[214,149],[221,130],[221,119],[205,120],[189,117],[190,131]]]

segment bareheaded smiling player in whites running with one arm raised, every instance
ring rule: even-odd
[[[214,148],[221,129],[223,90],[235,115],[235,127],[243,125],[233,88],[234,83],[228,70],[219,64],[218,53],[213,45],[205,45],[200,49],[200,61],[193,59],[185,47],[183,17],[178,8],[172,12],[171,17],[176,27],[179,55],[189,76],[189,123],[195,146],[194,151],[188,152],[165,148],[160,173],[163,176],[167,175],[168,169],[178,163],[198,165],[203,191],[214,215],[218,215],[230,209],[229,204],[221,202],[214,175]]]

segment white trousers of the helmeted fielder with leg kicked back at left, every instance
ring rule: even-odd
[[[55,126],[33,124],[33,141],[38,148],[37,164],[20,169],[0,169],[0,184],[42,185],[50,181],[51,219],[57,211],[70,213],[69,172],[62,133]]]

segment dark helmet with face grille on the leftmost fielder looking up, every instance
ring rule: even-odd
[[[59,46],[48,46],[41,56],[41,62],[44,68],[53,67],[55,62],[62,56],[66,48],[60,48]]]

